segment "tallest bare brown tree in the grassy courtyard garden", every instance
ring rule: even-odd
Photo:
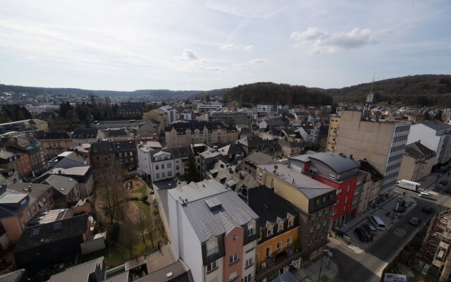
[[[121,164],[113,163],[110,167],[104,168],[99,172],[99,181],[97,185],[101,208],[109,215],[110,224],[113,224],[115,216],[121,212],[125,190],[122,185]]]

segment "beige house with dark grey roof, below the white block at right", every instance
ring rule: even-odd
[[[411,180],[418,182],[431,174],[435,161],[435,152],[421,144],[420,141],[406,146],[402,157],[400,175],[398,180]]]

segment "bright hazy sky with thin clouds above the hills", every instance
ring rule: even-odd
[[[0,83],[213,90],[451,74],[451,1],[0,0]]]

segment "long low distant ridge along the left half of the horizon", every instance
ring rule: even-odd
[[[76,96],[89,96],[91,94],[109,97],[149,97],[154,99],[188,99],[197,96],[203,96],[205,93],[211,97],[221,96],[228,89],[218,90],[135,90],[135,91],[111,91],[111,90],[83,90],[78,88],[49,88],[49,87],[27,87],[18,85],[0,84],[0,92],[16,92],[28,94],[65,94]]]

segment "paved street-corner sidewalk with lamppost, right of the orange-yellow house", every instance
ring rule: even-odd
[[[316,282],[319,278],[319,270],[321,266],[320,281],[330,281],[337,277],[340,271],[333,257],[328,258],[328,254],[324,252],[322,261],[323,266],[321,266],[321,257],[312,262],[305,262],[302,264],[301,269],[294,271],[293,274],[298,281]]]

